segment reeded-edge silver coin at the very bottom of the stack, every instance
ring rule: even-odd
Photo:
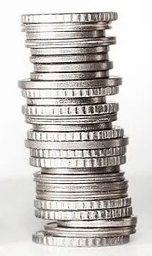
[[[106,247],[127,244],[130,236],[116,237],[56,237],[47,235],[45,231],[38,231],[32,235],[36,244],[62,247]]]

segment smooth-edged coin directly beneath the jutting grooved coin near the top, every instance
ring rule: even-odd
[[[107,53],[110,47],[63,47],[63,48],[31,48],[32,55],[67,55],[67,54],[97,54]]]

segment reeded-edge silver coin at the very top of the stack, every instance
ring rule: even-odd
[[[68,22],[111,22],[117,20],[117,12],[88,13],[46,13],[21,16],[24,24],[33,23],[68,23]]]

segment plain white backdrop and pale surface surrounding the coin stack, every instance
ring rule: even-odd
[[[1,24],[1,171],[0,171],[0,255],[144,255],[152,254],[152,18],[150,1],[5,1],[0,10]],[[114,61],[111,74],[123,77],[118,123],[130,136],[126,171],[137,213],[137,234],[130,244],[110,248],[51,248],[32,244],[31,234],[42,228],[36,220],[32,201],[35,194],[29,152],[24,147],[25,125],[21,113],[19,78],[29,78],[29,50],[20,32],[22,13],[117,11],[111,36],[117,45],[110,47]],[[114,99],[114,96],[113,96]]]

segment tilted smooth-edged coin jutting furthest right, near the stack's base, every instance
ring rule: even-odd
[[[137,216],[130,216],[123,219],[114,220],[80,220],[80,221],[59,221],[59,227],[131,227],[136,226]]]

